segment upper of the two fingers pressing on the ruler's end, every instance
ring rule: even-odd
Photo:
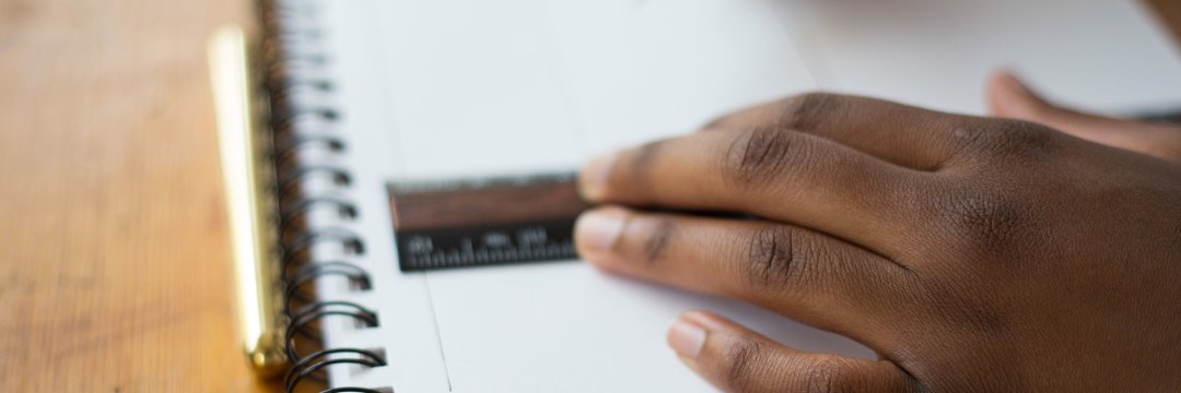
[[[929,173],[815,136],[757,129],[700,132],[624,150],[588,164],[590,202],[743,211],[796,223],[888,253],[918,216]]]

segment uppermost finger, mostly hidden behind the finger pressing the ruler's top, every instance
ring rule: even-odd
[[[706,129],[775,127],[805,132],[896,165],[933,171],[955,152],[952,135],[971,118],[886,100],[810,93],[745,109]]]

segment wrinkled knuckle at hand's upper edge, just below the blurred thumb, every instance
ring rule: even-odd
[[[992,159],[1045,159],[1053,157],[1058,146],[1056,131],[1022,120],[988,119],[985,125],[966,132],[970,137],[961,150]]]

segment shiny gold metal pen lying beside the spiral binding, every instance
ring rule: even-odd
[[[209,61],[237,280],[239,333],[250,366],[260,375],[273,376],[288,366],[278,229],[267,214],[274,207],[267,188],[274,175],[261,153],[268,136],[260,132],[265,127],[257,122],[254,68],[240,27],[214,33]]]

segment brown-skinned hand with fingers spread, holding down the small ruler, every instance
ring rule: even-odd
[[[879,354],[683,315],[670,345],[725,391],[1181,389],[1181,130],[1005,74],[990,103],[1024,120],[807,94],[593,161],[579,253]]]

